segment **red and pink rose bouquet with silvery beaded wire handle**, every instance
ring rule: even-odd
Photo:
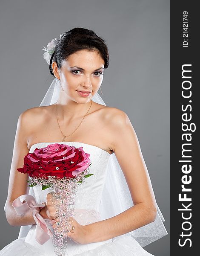
[[[49,234],[46,240],[50,237],[52,238],[56,255],[66,255],[67,233],[73,228],[69,217],[74,216],[77,187],[83,183],[86,177],[93,175],[88,174],[91,166],[89,156],[90,154],[83,151],[83,147],[75,148],[66,144],[54,143],[44,148],[35,148],[33,153],[26,154],[23,167],[17,169],[19,172],[29,175],[28,186],[41,186],[42,190],[49,189],[52,195],[51,201],[54,204],[57,216],[60,218],[54,233],[48,230],[47,226],[43,227],[41,225],[42,217],[39,214],[39,210],[40,207],[44,207],[43,204],[34,205],[34,209],[36,209],[34,218],[36,219],[36,224],[39,223],[38,226],[40,228],[43,227],[43,231]],[[31,195],[26,196],[31,197]],[[13,207],[16,211],[17,199],[15,200],[16,202],[13,202]],[[26,199],[21,198],[21,203],[26,201],[30,208],[29,200]],[[35,215],[36,213],[37,215]],[[42,223],[44,224],[43,220]],[[62,232],[60,232],[60,227],[63,227],[61,229]],[[36,239],[37,237],[36,234]],[[43,244],[44,241],[40,240],[37,239],[40,244]]]

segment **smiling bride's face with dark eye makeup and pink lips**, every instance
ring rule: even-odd
[[[61,70],[52,62],[54,75],[60,78],[67,96],[77,103],[86,103],[97,93],[103,81],[104,60],[97,51],[80,50],[63,62]],[[80,91],[89,91],[88,95]]]

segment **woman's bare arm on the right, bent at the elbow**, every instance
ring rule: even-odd
[[[112,218],[86,225],[88,243],[123,235],[156,218],[154,192],[137,135],[126,113],[118,109],[115,111],[108,118],[107,134],[111,138],[111,149],[123,170],[134,206]]]

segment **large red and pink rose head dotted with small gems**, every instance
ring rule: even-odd
[[[54,143],[26,154],[23,167],[17,170],[28,173],[30,177],[74,178],[89,167],[89,156],[83,147]]]

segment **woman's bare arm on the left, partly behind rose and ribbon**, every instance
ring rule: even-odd
[[[23,166],[24,156],[29,153],[27,148],[28,131],[31,132],[31,111],[27,110],[20,114],[17,122],[17,131],[14,140],[13,156],[9,177],[9,188],[4,211],[6,219],[11,226],[24,226],[34,224],[34,218],[31,211],[27,211],[23,215],[17,215],[12,202],[14,199],[23,194],[29,193],[28,175],[17,171],[17,168]]]

